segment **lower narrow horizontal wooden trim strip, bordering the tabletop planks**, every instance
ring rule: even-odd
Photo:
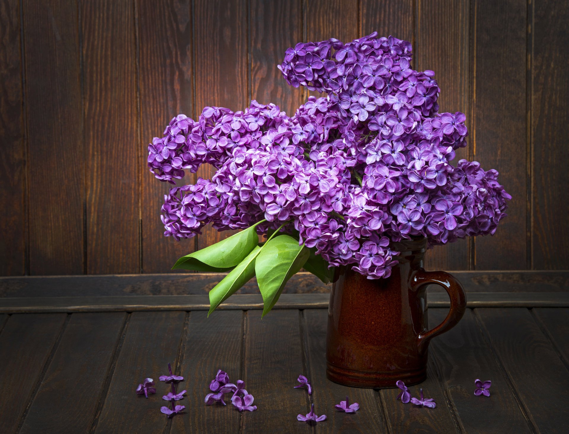
[[[446,293],[429,293],[431,308],[449,306]],[[469,308],[569,307],[569,292],[467,293]],[[275,309],[328,308],[329,294],[282,294]],[[261,294],[236,294],[217,309],[262,309]],[[134,312],[138,310],[209,310],[207,295],[112,296],[112,297],[18,297],[0,298],[0,313]]]

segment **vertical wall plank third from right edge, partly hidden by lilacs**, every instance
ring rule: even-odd
[[[418,0],[417,4],[414,67],[418,71],[435,71],[441,89],[439,113],[465,113],[470,130],[470,1]],[[467,148],[457,150],[453,165],[461,158],[468,158],[471,148],[473,145],[469,141]],[[468,270],[470,242],[465,239],[435,246],[425,257],[425,268]]]

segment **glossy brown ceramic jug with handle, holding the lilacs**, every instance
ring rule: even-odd
[[[393,243],[399,264],[387,279],[366,279],[343,267],[328,308],[328,379],[354,387],[395,387],[426,378],[428,342],[454,327],[466,309],[462,285],[443,271],[424,271],[426,239]],[[428,284],[446,289],[451,309],[427,329]]]

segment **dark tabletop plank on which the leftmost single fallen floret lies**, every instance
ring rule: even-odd
[[[95,432],[142,434],[166,427],[166,416],[160,407],[168,405],[162,396],[170,391],[170,384],[160,382],[158,377],[167,374],[168,363],[176,366],[185,315],[185,312],[131,314]],[[135,395],[138,384],[148,377],[154,379],[156,394],[148,399]],[[125,411],[126,405],[136,411]]]

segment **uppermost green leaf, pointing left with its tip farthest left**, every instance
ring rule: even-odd
[[[260,223],[260,222],[259,222]],[[258,224],[258,223],[257,223]],[[185,255],[176,261],[174,267],[194,271],[229,271],[236,267],[257,246],[259,237],[255,226],[237,232],[237,234],[205,247],[197,252]]]

